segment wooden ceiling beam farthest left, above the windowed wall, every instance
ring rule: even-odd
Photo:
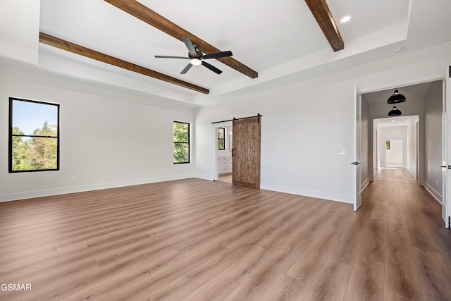
[[[165,82],[170,82],[171,84],[178,85],[180,87],[185,87],[190,90],[194,90],[197,92],[201,92],[204,94],[209,94],[209,90],[203,87],[199,87],[197,85],[193,85],[190,82],[185,82],[183,80],[179,80],[178,78],[173,78],[169,75],[165,75],[163,73],[159,73],[157,71],[136,65],[134,63],[129,63],[128,61],[123,61],[121,59],[117,59],[113,56],[109,56],[108,54],[102,54],[99,51],[95,51],[86,47],[82,47],[78,44],[74,44],[72,42],[68,42],[64,39],[60,39],[58,37],[54,37],[51,35],[47,35],[44,32],[39,32],[39,42],[43,44],[47,44],[49,46],[53,46],[59,49],[63,49],[66,51],[73,52],[74,54],[80,54],[80,56],[86,56],[89,59],[94,59],[97,61],[101,61],[104,63],[109,63],[110,65],[117,66],[120,68],[124,68],[133,72],[141,73],[143,75],[150,76],[151,78],[156,78],[157,80],[163,80]]]

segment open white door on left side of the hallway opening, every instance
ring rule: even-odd
[[[354,211],[362,205],[362,92],[354,86]]]

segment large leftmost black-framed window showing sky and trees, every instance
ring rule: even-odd
[[[59,170],[59,104],[9,98],[10,173]]]

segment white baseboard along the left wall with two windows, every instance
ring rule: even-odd
[[[144,178],[139,180],[127,180],[120,182],[110,182],[110,183],[98,183],[92,185],[82,185],[82,186],[72,186],[66,188],[51,188],[47,190],[33,190],[25,192],[11,193],[8,195],[0,195],[0,202],[15,201],[18,199],[30,199],[33,197],[47,197],[50,195],[65,195],[74,192],[84,192],[91,190],[101,190],[108,188],[118,188],[124,186],[141,185],[149,183],[164,182],[168,180],[181,180],[185,178],[194,178],[194,175],[178,175],[178,176],[163,176],[158,178]]]

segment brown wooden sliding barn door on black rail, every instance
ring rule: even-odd
[[[261,116],[233,121],[232,183],[260,188]]]

